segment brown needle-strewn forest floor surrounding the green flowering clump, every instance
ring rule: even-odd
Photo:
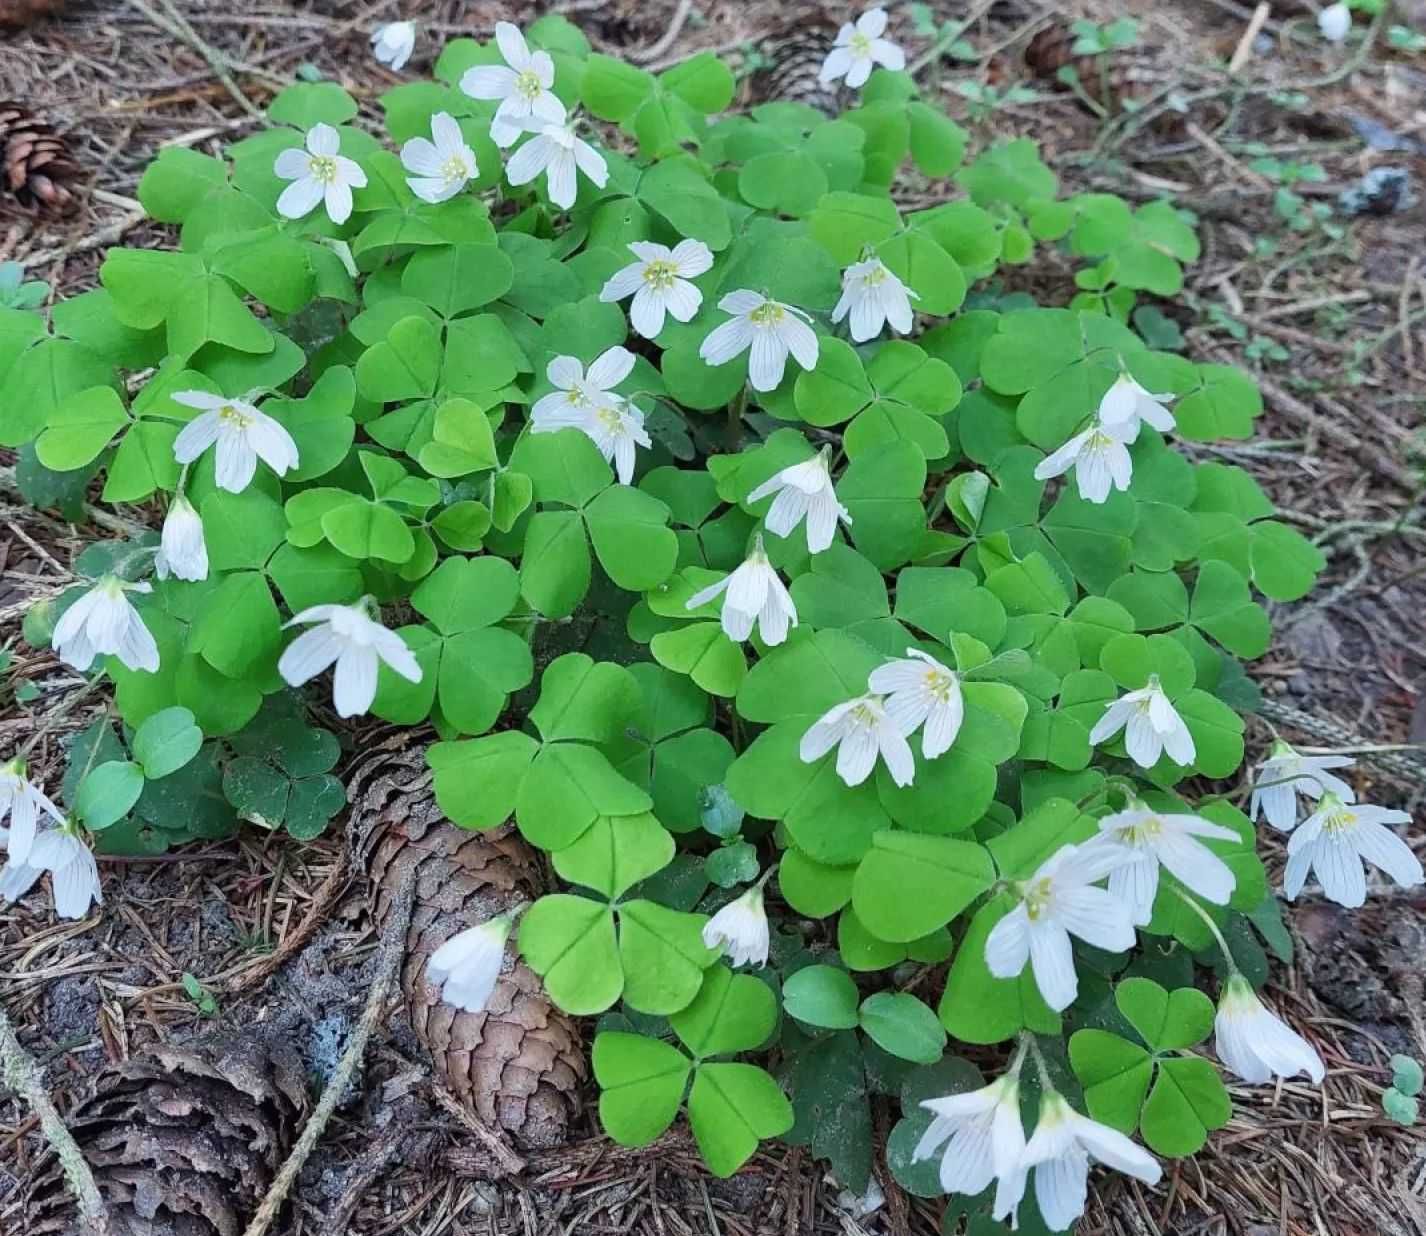
[[[747,70],[796,57],[806,31],[846,16],[806,0],[575,0],[552,7],[596,43],[645,61],[716,47],[742,57]],[[1278,3],[1259,38],[1242,48],[1252,11],[1236,0],[943,0],[933,7],[943,20],[971,9],[977,14],[967,37],[981,60],[933,60],[921,73],[931,88],[944,90],[978,140],[1032,135],[1071,187],[1141,200],[1168,192],[1201,215],[1204,261],[1191,269],[1184,301],[1164,309],[1182,329],[1189,355],[1253,369],[1268,412],[1252,443],[1196,449],[1253,472],[1282,517],[1329,555],[1323,586],[1305,602],[1278,607],[1276,644],[1253,666],[1269,719],[1306,744],[1426,738],[1426,527],[1417,458],[1426,406],[1426,56],[1387,44],[1389,24],[1416,21],[1426,31],[1426,20],[1403,4],[1399,17],[1370,29],[1369,46],[1340,50],[1316,37],[1310,6]],[[0,97],[21,98],[68,130],[74,153],[94,172],[73,218],[33,221],[0,205],[0,258],[24,261],[63,294],[93,279],[106,245],[160,240],[140,225],[133,201],[157,147],[215,150],[252,125],[242,100],[261,107],[307,61],[341,80],[371,111],[398,80],[366,54],[374,23],[395,16],[425,21],[428,37],[412,64],[421,71],[445,37],[483,36],[495,19],[525,20],[533,6],[443,0],[401,6],[398,14],[386,0],[270,3],[242,11],[184,3],[195,38],[175,33],[174,11],[161,0],[76,0],[63,20],[0,44]],[[1141,20],[1141,43],[1115,58],[1104,80],[1111,94],[1137,100],[1137,111],[1099,117],[1024,66],[1024,47],[1057,19],[1108,21],[1125,11]],[[906,10],[894,21],[915,60],[927,38],[914,33]],[[1239,68],[1228,73],[1235,53]],[[230,64],[231,73],[217,73],[210,61]],[[744,77],[744,98],[764,76]],[[797,80],[797,73],[781,80]],[[985,80],[1000,88],[1030,81],[1042,97],[978,118],[955,87]],[[1109,103],[1112,110],[1112,97]],[[1417,204],[1358,220],[1333,214],[1295,228],[1278,202],[1282,170],[1259,164],[1262,158],[1320,168],[1319,180],[1293,185],[1309,214],[1378,167],[1405,170]],[[915,184],[904,191],[924,197]],[[1004,291],[1028,289],[1030,278]],[[1057,271],[1052,257],[1034,264],[1032,279],[1047,302],[1072,294],[1068,264]],[[0,500],[9,503],[0,506],[0,627],[13,643],[24,607],[67,582],[81,535],[20,509],[13,495],[0,493]],[[26,701],[26,683],[39,689],[37,699]],[[47,653],[17,644],[0,681],[0,751],[47,724],[36,753],[43,768],[56,754],[51,744],[91,716],[88,700],[63,711],[78,684]],[[1251,728],[1259,746],[1266,736],[1263,726]],[[1363,797],[1419,805],[1417,754],[1363,760]],[[374,948],[359,881],[349,881],[339,862],[335,841],[295,845],[248,835],[163,860],[110,861],[103,918],[54,925],[37,897],[0,914],[0,999],[46,1066],[61,1111],[83,1096],[104,1062],[125,1059],[154,1039],[202,1034],[211,1022],[279,1019],[314,1072],[321,1073],[324,1061],[329,1068],[359,1014]],[[1275,877],[1281,864],[1281,853],[1269,854]],[[1385,1121],[1379,1105],[1387,1056],[1426,1056],[1423,908],[1426,898],[1389,894],[1355,915],[1301,901],[1291,914],[1296,961],[1281,968],[1276,998],[1322,1049],[1326,1086],[1235,1092],[1233,1122],[1208,1150],[1176,1165],[1156,1190],[1109,1183],[1082,1230],[1426,1232],[1426,1142],[1419,1131]],[[185,972],[212,992],[215,1018],[205,1018],[185,994]],[[304,1173],[287,1230],[324,1230],[324,1216],[345,1193],[348,1166],[394,1121],[428,1136],[421,1145],[429,1156],[394,1163],[361,1195],[351,1225],[361,1236],[938,1226],[937,1205],[906,1198],[888,1179],[887,1205],[854,1217],[800,1150],[774,1149],[732,1182],[709,1180],[682,1133],[640,1153],[590,1138],[528,1156],[515,1182],[496,1186],[481,1143],[422,1096],[422,1069],[419,1051],[394,1018],[369,1054],[359,1095],[338,1113]],[[23,1206],[41,1150],[34,1123],[0,1099],[0,1232],[24,1230]]]

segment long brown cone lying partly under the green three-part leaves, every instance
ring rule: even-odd
[[[485,1123],[508,1129],[519,1143],[562,1145],[586,1076],[573,1021],[522,961],[506,959],[479,1014],[445,1004],[425,974],[431,954],[449,937],[539,895],[545,881],[538,855],[509,824],[471,833],[448,823],[431,788],[425,741],[409,731],[356,766],[348,798],[348,835],[369,875],[378,927],[406,871],[418,870],[401,982],[438,1078]]]

